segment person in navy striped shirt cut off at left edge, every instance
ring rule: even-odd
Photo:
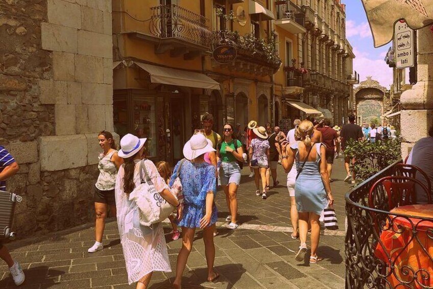
[[[18,163],[5,147],[0,146],[0,194],[2,193],[1,191],[6,191],[6,180],[14,176],[18,170]],[[2,243],[1,239],[0,258],[8,265],[15,285],[21,285],[25,281],[26,276],[22,272],[21,265],[12,258],[8,248]]]

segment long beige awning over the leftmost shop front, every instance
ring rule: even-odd
[[[150,74],[152,83],[162,83],[186,87],[209,88],[220,90],[220,83],[207,75],[198,72],[183,71],[173,68],[165,68],[157,65],[134,61],[142,70]]]

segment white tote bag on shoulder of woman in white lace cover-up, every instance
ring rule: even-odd
[[[143,171],[145,172],[144,179]],[[140,162],[140,181],[141,184],[129,194],[129,199],[134,201],[140,209],[140,224],[150,226],[160,223],[173,212],[175,207],[158,193],[144,161]]]

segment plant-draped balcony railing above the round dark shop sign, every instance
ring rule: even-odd
[[[278,53],[269,53],[270,46],[274,44],[255,38],[251,33],[240,36],[238,31],[214,31],[212,33],[213,47],[221,43],[231,44],[236,47],[237,59],[267,66],[276,72],[281,66]],[[275,49],[275,48],[271,48]]]

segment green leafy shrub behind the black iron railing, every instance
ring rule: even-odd
[[[356,182],[361,183],[392,163],[401,159],[400,139],[370,143],[349,141],[344,150],[348,157],[355,158],[351,169],[356,174]]]

